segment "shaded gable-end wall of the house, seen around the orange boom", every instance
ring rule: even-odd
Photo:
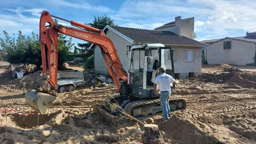
[[[128,71],[129,56],[126,55],[126,47],[132,45],[132,43],[113,33],[113,31],[108,30],[106,34],[113,41],[114,47],[116,47],[117,50],[117,55],[119,55],[119,59],[123,64],[124,70]],[[103,56],[101,54],[100,47],[98,46],[95,46],[94,49],[94,71],[96,73],[108,73]]]

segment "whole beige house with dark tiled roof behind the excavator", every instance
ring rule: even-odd
[[[191,18],[191,20],[194,21],[194,18]],[[194,23],[190,25],[190,28],[186,27],[187,31],[190,30],[190,34],[188,32],[181,32],[184,31],[181,27],[182,21],[181,17],[176,17],[175,21],[171,22],[171,25],[169,23],[163,25],[164,27],[162,26],[162,28],[164,29],[158,27],[155,30],[143,30],[138,28],[110,27],[107,25],[104,31],[113,41],[124,70],[128,71],[129,69],[128,46],[133,44],[162,43],[165,47],[172,47],[175,77],[186,78],[201,72],[201,47],[206,47],[207,44],[191,39],[194,36]],[[186,36],[183,36],[183,33]],[[108,73],[98,46],[95,46],[94,49],[94,70],[96,73]]]

